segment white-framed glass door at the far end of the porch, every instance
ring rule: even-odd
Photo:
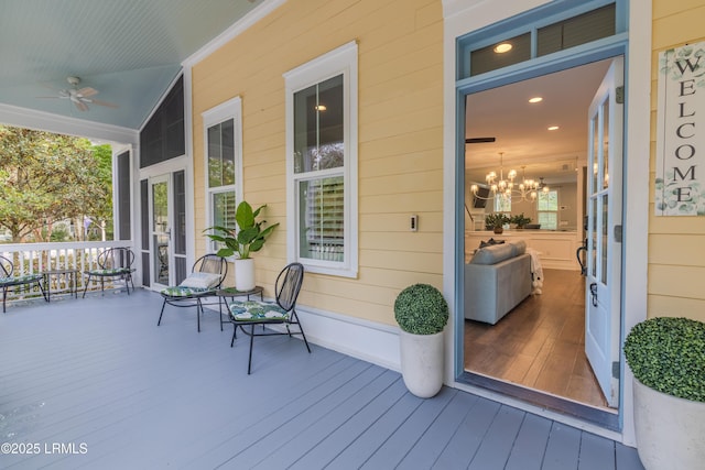
[[[174,265],[171,248],[171,200],[170,175],[150,178],[151,253],[152,278],[156,288],[171,284],[171,269]]]

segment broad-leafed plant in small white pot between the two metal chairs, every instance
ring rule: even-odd
[[[215,231],[216,233],[207,233],[206,236],[214,241],[225,244],[218,250],[218,256],[228,258],[237,254],[235,259],[235,288],[247,292],[254,288],[254,260],[250,258],[250,253],[260,251],[264,247],[264,241],[272,234],[272,231],[279,226],[262,228],[267,220],[256,220],[260,211],[267,205],[260,206],[257,210],[252,210],[252,206],[243,200],[235,211],[235,221],[239,231],[227,227],[213,226],[205,231]]]

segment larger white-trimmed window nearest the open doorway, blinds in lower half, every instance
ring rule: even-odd
[[[288,250],[312,272],[357,276],[357,44],[284,74]]]

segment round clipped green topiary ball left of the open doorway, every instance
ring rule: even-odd
[[[434,286],[414,284],[397,296],[394,318],[406,332],[435,335],[448,323],[448,304]]]

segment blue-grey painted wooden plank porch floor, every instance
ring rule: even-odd
[[[0,317],[3,469],[642,469],[632,448],[138,289]],[[304,325],[305,327],[305,325]],[[9,453],[15,452],[15,453]],[[31,452],[31,453],[30,453]]]

